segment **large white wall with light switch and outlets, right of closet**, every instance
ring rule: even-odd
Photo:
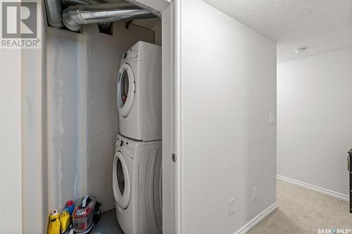
[[[276,44],[200,0],[181,20],[181,232],[234,233],[275,204]]]

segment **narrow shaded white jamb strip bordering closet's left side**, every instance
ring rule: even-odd
[[[42,35],[45,35],[42,27]],[[22,49],[22,209],[23,233],[44,233],[46,230],[47,185],[44,183],[44,167],[47,166],[43,138],[46,121],[42,110],[44,79],[46,77],[45,38],[42,49]],[[43,155],[45,155],[43,157]],[[46,195],[44,195],[46,193]],[[35,210],[36,212],[32,212]],[[45,222],[45,229],[43,223]],[[1,232],[0,232],[1,233]]]

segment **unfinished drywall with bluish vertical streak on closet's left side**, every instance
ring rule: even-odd
[[[49,27],[49,209],[87,194],[87,35]]]

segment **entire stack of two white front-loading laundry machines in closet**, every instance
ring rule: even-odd
[[[117,88],[116,216],[125,234],[158,234],[162,232],[161,46],[139,41],[124,53]]]

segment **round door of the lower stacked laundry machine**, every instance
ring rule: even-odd
[[[130,203],[131,184],[127,164],[120,151],[113,158],[113,194],[118,207],[126,209]]]

